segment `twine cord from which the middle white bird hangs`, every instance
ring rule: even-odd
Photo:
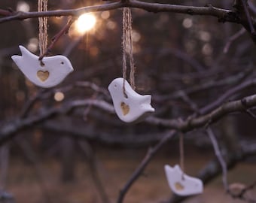
[[[132,37],[132,13],[130,8],[123,8],[123,95],[126,95],[125,80],[126,80],[126,59],[130,62],[130,85],[136,89],[134,74],[136,71],[133,60],[133,37]]]

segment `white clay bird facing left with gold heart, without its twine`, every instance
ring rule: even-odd
[[[139,95],[125,80],[126,96],[123,94],[123,78],[114,79],[108,86],[114,103],[114,110],[120,120],[133,123],[144,119],[154,112],[151,107],[151,95]]]

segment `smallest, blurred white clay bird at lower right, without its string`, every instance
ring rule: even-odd
[[[176,195],[197,195],[203,192],[202,180],[183,174],[178,165],[175,165],[173,168],[165,165],[164,169],[169,187]]]

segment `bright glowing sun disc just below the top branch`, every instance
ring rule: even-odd
[[[75,27],[80,34],[90,31],[95,25],[96,17],[93,14],[82,14],[75,23]]]

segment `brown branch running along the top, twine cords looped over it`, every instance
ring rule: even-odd
[[[236,17],[236,14],[233,11],[215,8],[213,6],[206,7],[194,7],[194,6],[184,6],[184,5],[167,5],[167,4],[159,4],[159,3],[148,3],[148,2],[140,2],[136,0],[130,1],[120,1],[114,2],[105,5],[96,5],[96,6],[88,6],[78,9],[69,9],[69,10],[61,10],[61,11],[45,11],[45,12],[14,12],[10,13],[7,11],[2,11],[2,17],[0,19],[0,23],[5,23],[11,20],[25,20],[28,18],[38,18],[38,17],[60,17],[60,16],[73,16],[78,17],[81,14],[88,12],[97,12],[97,11],[110,11],[117,8],[123,7],[131,7],[131,8],[141,8],[145,11],[149,12],[172,12],[179,14],[190,14],[190,15],[206,15],[212,17],[218,17],[218,20],[221,22],[232,22],[239,23],[239,18]]]

